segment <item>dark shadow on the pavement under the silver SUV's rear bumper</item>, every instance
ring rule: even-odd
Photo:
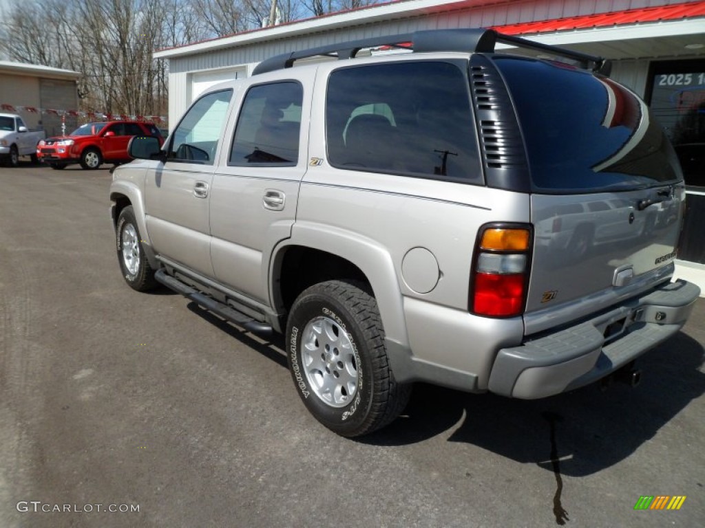
[[[366,444],[414,444],[457,427],[465,442],[520,463],[570,476],[593,474],[624,460],[692,400],[705,393],[704,348],[679,332],[637,362],[643,381],[632,389],[599,384],[541,400],[472,395],[418,384],[405,412]]]

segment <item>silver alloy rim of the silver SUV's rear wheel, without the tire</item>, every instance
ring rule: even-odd
[[[318,317],[304,328],[301,341],[304,372],[313,393],[331,407],[345,407],[357,393],[355,349],[345,329]]]

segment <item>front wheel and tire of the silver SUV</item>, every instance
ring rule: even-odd
[[[132,206],[121,210],[115,232],[118,262],[125,282],[137,291],[153,289],[157,281],[142,248],[142,237]]]

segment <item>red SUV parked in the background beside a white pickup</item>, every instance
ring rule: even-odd
[[[68,136],[50,137],[37,144],[37,158],[53,169],[80,163],[84,169],[97,169],[102,163],[127,163],[128,143],[133,136],[154,136],[164,143],[152,123],[137,121],[90,122]]]

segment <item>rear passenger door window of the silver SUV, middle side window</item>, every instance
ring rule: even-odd
[[[235,128],[230,165],[296,165],[303,89],[298,82],[250,88]]]

